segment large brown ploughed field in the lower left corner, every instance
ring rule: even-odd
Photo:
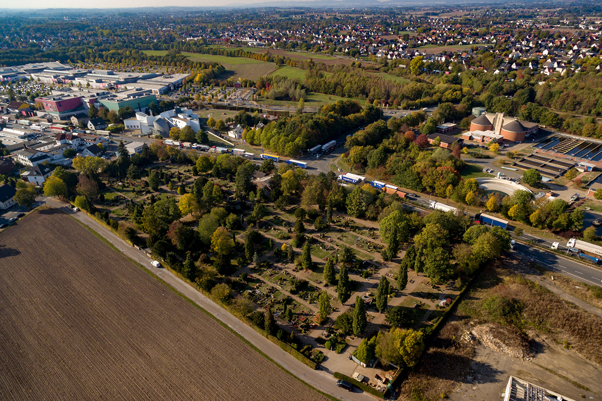
[[[326,400],[63,213],[0,244],[1,400]]]

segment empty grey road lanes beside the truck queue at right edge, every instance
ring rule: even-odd
[[[565,259],[558,254],[532,248],[522,243],[517,243],[514,246],[514,251],[550,271],[570,275],[571,278],[575,278],[582,283],[602,287],[602,271],[598,269],[590,268],[579,262]]]

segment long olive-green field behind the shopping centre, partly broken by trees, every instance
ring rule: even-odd
[[[166,55],[167,51],[164,50],[145,50],[145,54],[148,55]],[[276,69],[276,64],[267,63],[261,60],[253,60],[252,58],[245,57],[228,57],[214,54],[200,54],[182,52],[182,55],[188,57],[191,61],[213,61],[220,63],[228,70],[229,75],[233,78],[247,78],[247,79],[259,79]]]

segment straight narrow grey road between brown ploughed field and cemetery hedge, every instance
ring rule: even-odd
[[[241,337],[246,338],[246,340],[253,344],[253,346],[264,352],[265,355],[272,358],[272,360],[274,360],[292,375],[308,383],[312,387],[315,387],[318,390],[323,391],[323,393],[329,394],[330,396],[340,400],[372,401],[376,399],[376,397],[371,396],[368,393],[364,393],[362,390],[358,390],[358,388],[355,388],[354,392],[348,392],[343,388],[337,387],[335,385],[336,379],[332,376],[332,373],[334,372],[329,374],[322,370],[312,370],[300,363],[290,354],[282,350],[278,345],[263,337],[253,328],[249,327],[246,323],[238,320],[237,317],[226,311],[220,305],[216,304],[196,289],[193,289],[193,287],[173,275],[171,272],[167,271],[166,269],[154,268],[151,266],[152,260],[146,256],[143,251],[129,245],[120,237],[116,236],[116,234],[114,234],[112,231],[108,230],[85,213],[74,212],[66,203],[53,198],[43,197],[39,198],[39,200],[41,200],[46,206],[59,209],[67,215],[70,215],[87,225],[87,227],[92,228],[92,230],[96,231],[98,234],[108,240],[108,242],[119,249],[119,251],[125,254],[125,256],[137,263],[140,263],[140,265],[144,266],[146,269],[152,272],[152,274],[161,278],[161,280],[166,281],[167,284],[172,286],[178,292],[182,293],[182,295],[196,302],[197,305],[213,314],[213,316],[217,317],[217,319],[228,325],[231,329],[241,335]]]

